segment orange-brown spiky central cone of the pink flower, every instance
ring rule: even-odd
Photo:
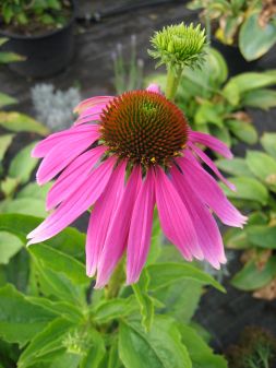
[[[168,166],[188,140],[183,112],[155,92],[125,92],[108,104],[100,118],[101,140],[109,152],[133,164]]]

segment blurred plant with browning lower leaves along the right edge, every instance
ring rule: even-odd
[[[235,204],[249,212],[244,229],[228,229],[225,244],[242,250],[242,270],[231,284],[256,298],[276,298],[276,133],[265,133],[264,152],[248,151],[245,158],[218,159],[217,166],[230,175],[236,192],[225,189]]]

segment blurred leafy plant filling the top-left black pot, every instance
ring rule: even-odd
[[[1,0],[1,28],[12,33],[28,29],[31,33],[44,28],[62,27],[71,14],[69,0]],[[24,32],[25,33],[25,32]]]

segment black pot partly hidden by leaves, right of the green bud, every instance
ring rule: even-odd
[[[229,76],[257,69],[257,60],[247,61],[237,46],[224,45],[215,37],[212,37],[211,43],[225,57]]]

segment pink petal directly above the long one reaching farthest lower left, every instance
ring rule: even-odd
[[[68,199],[87,178],[93,167],[99,161],[107,149],[103,145],[89,150],[76,157],[61,173],[55,185],[51,187],[46,199],[46,210],[49,211],[60,202]]]

